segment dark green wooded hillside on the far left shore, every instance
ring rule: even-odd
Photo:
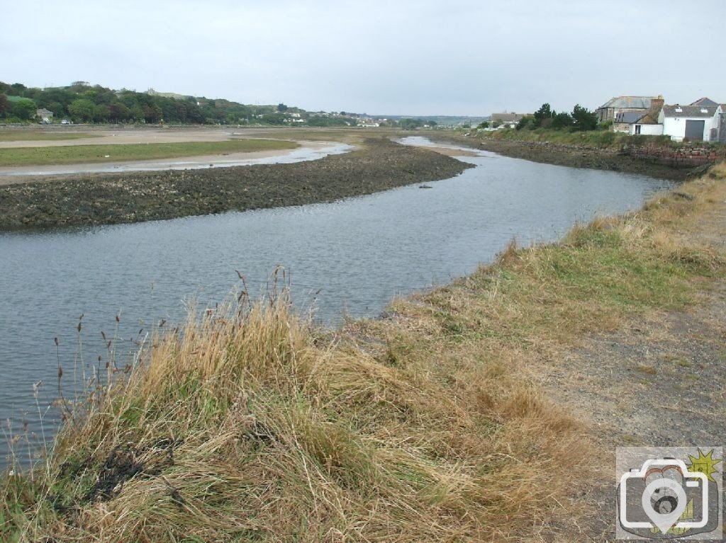
[[[248,106],[221,99],[192,96],[162,96],[122,89],[113,91],[99,85],[76,81],[67,87],[28,88],[21,83],[0,82],[0,118],[30,120],[36,109],[52,111],[55,118],[78,123],[192,123],[240,124],[252,120],[277,124],[284,121],[278,106]]]

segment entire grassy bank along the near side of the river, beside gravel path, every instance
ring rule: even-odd
[[[684,232],[725,178],[721,165],[561,243],[510,246],[338,331],[243,291],[161,334],[129,376],[108,368],[115,386],[89,391],[47,462],[2,479],[1,539],[576,539],[589,444],[542,393],[538,357],[722,280],[725,255]]]

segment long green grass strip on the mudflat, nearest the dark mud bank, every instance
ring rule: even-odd
[[[0,166],[88,164],[120,160],[155,160],[195,157],[204,154],[295,149],[294,141],[235,139],[191,141],[177,144],[68,145],[60,147],[13,147],[0,149]]]

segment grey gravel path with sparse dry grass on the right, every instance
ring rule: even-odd
[[[683,236],[726,252],[726,183],[717,206],[685,224]],[[586,420],[600,476],[574,505],[571,541],[613,541],[616,447],[726,443],[726,282],[709,281],[685,312],[653,312],[615,333],[595,333],[543,360],[542,385]]]

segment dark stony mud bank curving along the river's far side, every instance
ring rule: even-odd
[[[0,230],[136,223],[331,202],[450,178],[468,167],[376,138],[348,154],[295,164],[39,179],[0,187]]]

